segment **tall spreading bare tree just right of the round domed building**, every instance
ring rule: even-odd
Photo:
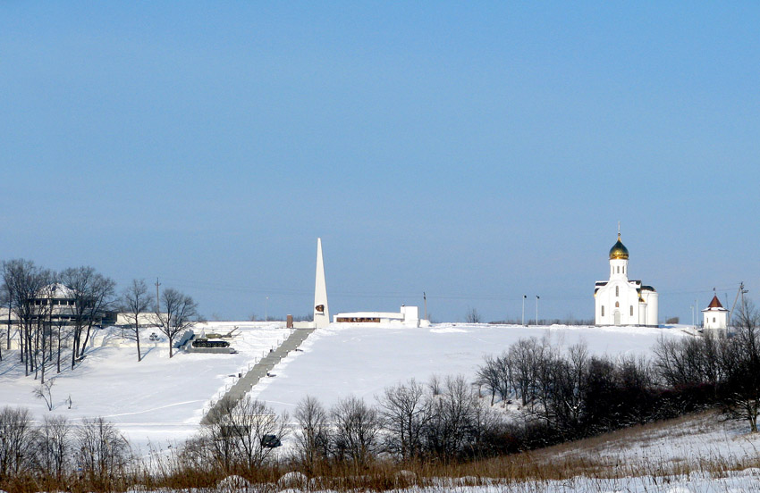
[[[60,279],[71,290],[72,307],[72,368],[84,355],[93,326],[100,322],[106,310],[114,304],[116,283],[92,267],[77,267],[61,272]],[[83,338],[82,338],[83,337]]]

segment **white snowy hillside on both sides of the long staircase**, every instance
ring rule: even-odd
[[[233,340],[236,355],[187,354],[169,359],[165,341],[148,342],[156,330],[142,335],[144,359],[137,362],[132,344],[120,330],[98,335],[86,359],[55,378],[52,413],[72,419],[104,416],[132,444],[166,445],[197,430],[208,403],[223,395],[240,372],[278,345],[289,334],[282,322],[208,322],[199,330],[226,332],[240,327]],[[483,356],[498,354],[519,338],[550,338],[558,347],[580,341],[595,354],[646,355],[657,338],[688,337],[680,329],[522,327],[487,324],[436,324],[427,328],[368,327],[333,324],[313,332],[272,373],[261,380],[252,396],[278,411],[291,412],[302,397],[318,397],[325,405],[353,394],[374,399],[385,387],[401,380],[427,380],[464,374],[472,378]],[[13,353],[11,354],[13,355]],[[7,354],[5,356],[8,356]],[[48,370],[48,377],[55,372]],[[23,376],[13,357],[0,363],[0,405],[29,407],[41,417],[49,413],[44,401],[32,395],[37,380]],[[71,397],[72,407],[67,400]]]

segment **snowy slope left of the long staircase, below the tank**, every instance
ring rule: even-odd
[[[70,360],[63,361],[60,375],[55,375],[55,367],[47,369],[46,377],[55,377],[52,413],[72,419],[103,416],[137,447],[186,439],[197,430],[209,401],[235,380],[232,375],[247,370],[290,333],[278,322],[208,322],[196,330],[226,333],[234,326],[240,328],[240,335],[232,339],[238,354],[188,354],[175,349],[171,359],[165,340],[148,340],[152,332],[160,333],[143,330],[139,363],[134,343],[125,344],[121,330],[100,330],[104,333],[97,335],[94,347],[74,371]],[[0,405],[28,407],[38,417],[50,413],[45,402],[32,395],[38,381],[25,377],[15,358],[4,357]]]

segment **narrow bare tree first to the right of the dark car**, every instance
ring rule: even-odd
[[[314,473],[317,464],[329,453],[331,438],[327,412],[317,398],[307,396],[301,399],[293,417],[300,429],[295,436],[297,459],[307,473]]]

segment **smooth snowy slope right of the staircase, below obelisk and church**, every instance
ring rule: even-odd
[[[316,330],[259,381],[251,396],[292,412],[301,398],[334,405],[353,395],[369,401],[383,389],[414,378],[462,374],[472,380],[485,355],[499,354],[519,338],[549,338],[553,345],[587,344],[595,355],[647,355],[660,337],[688,337],[678,329],[646,327],[528,326],[442,323],[431,327],[333,324]]]

